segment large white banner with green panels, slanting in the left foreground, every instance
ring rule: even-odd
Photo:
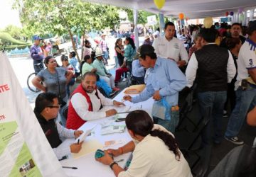
[[[0,159],[0,176],[66,176],[2,52]]]

